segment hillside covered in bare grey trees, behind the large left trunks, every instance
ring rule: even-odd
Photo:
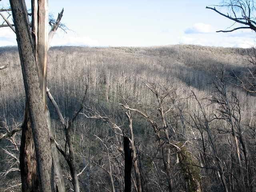
[[[75,117],[70,136],[81,191],[124,191],[123,133],[132,191],[256,190],[256,99],[234,86],[250,75],[253,55],[194,45],[50,48],[47,87],[64,120]],[[17,48],[0,48],[0,62],[8,64],[0,70],[5,134],[22,124],[25,92]],[[50,100],[48,107],[66,151],[66,130]],[[20,136],[0,140],[0,191],[20,191]],[[68,189],[63,156],[61,166]]]

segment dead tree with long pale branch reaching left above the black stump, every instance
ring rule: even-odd
[[[168,88],[166,86],[156,86],[156,84],[152,82],[142,82],[146,88],[148,88],[154,98],[156,99],[155,110],[156,115],[150,115],[153,113],[152,111],[147,111],[146,109],[137,109],[130,107],[127,103],[120,104],[124,108],[130,111],[134,111],[144,118],[151,124],[154,134],[156,136],[160,154],[162,155],[162,161],[164,164],[164,171],[166,172],[167,182],[168,182],[168,190],[172,192],[173,189],[173,176],[172,176],[172,167],[171,167],[171,153],[180,154],[182,152],[181,148],[184,147],[180,142],[173,140],[170,138],[170,130],[175,132],[174,128],[171,128],[168,115],[174,110],[173,100],[176,98],[176,91],[174,88]],[[183,153],[185,154],[185,153]],[[190,172],[191,170],[186,170]],[[186,173],[183,172],[185,175]],[[191,175],[193,177],[193,175]],[[192,191],[200,192],[200,181],[196,179],[192,179],[188,181],[189,188]],[[193,187],[192,187],[193,186]]]

